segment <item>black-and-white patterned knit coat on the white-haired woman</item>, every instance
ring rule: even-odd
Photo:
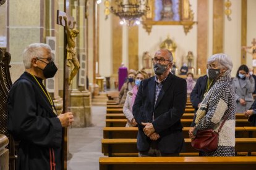
[[[195,129],[214,129],[218,131],[225,116],[214,152],[203,152],[203,156],[235,156],[236,102],[230,76],[221,76],[205,95],[197,110]]]

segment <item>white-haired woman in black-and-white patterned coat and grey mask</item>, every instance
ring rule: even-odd
[[[190,128],[189,137],[194,140],[197,130],[213,129],[218,131],[218,147],[213,152],[202,152],[202,156],[235,156],[236,102],[230,73],[233,67],[226,54],[215,54],[208,59],[207,75],[215,83],[205,93],[197,110],[195,126]],[[208,84],[208,86],[211,86]]]

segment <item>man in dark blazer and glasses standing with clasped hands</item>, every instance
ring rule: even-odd
[[[167,49],[157,51],[152,61],[156,76],[140,83],[132,111],[139,126],[139,156],[178,156],[184,145],[186,80],[170,73],[173,54]]]

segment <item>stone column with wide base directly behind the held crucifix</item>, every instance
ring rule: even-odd
[[[70,106],[69,110],[74,114],[74,122],[72,127],[87,127],[92,124],[91,119],[91,94],[86,88],[86,58],[88,51],[87,44],[87,19],[85,18],[86,4],[83,1],[71,1],[70,15],[77,22],[77,30],[79,34],[76,38],[77,58],[80,62],[79,73],[74,77],[73,83],[70,85]],[[71,70],[70,70],[71,71]],[[70,73],[69,71],[69,73]]]

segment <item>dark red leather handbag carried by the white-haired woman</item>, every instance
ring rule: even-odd
[[[218,147],[219,132],[221,131],[221,127],[225,123],[226,119],[227,117],[221,123],[218,132],[213,129],[198,130],[195,139],[191,141],[192,147],[202,152],[215,151]]]

